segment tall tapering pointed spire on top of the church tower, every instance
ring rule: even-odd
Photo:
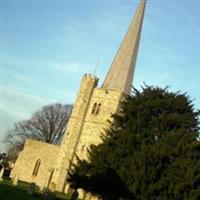
[[[130,94],[146,0],[141,0],[103,83],[103,88]]]

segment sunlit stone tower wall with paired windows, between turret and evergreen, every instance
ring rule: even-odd
[[[106,91],[102,88],[94,90],[76,150],[80,158],[87,159],[87,148],[91,144],[97,145],[102,142],[100,136],[104,133],[104,129],[109,127],[108,120],[112,120],[111,115],[117,111],[120,99],[121,92]],[[92,114],[95,103],[101,104],[98,114]]]

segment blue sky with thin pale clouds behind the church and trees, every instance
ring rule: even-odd
[[[139,1],[1,0],[1,137],[41,106],[100,84]],[[147,2],[133,85],[171,86],[200,108],[200,1]]]

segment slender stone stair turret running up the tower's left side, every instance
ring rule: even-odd
[[[96,87],[98,79],[94,76],[85,74],[82,78],[80,89],[71,117],[68,121],[67,130],[61,144],[61,151],[56,164],[53,181],[56,182],[56,190],[63,191],[66,182],[67,169],[70,165],[70,159],[74,156],[76,146],[78,145],[81,130],[84,124],[88,105]]]

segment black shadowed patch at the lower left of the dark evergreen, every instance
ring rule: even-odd
[[[76,181],[74,181],[75,179]],[[71,175],[70,182],[72,188],[82,188],[103,200],[134,199],[125,183],[112,168],[107,168],[93,175]]]

